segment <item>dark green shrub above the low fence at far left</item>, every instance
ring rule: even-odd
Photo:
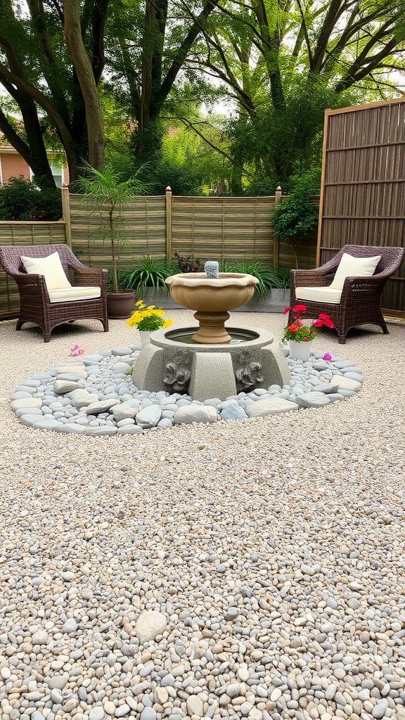
[[[61,191],[12,178],[0,187],[0,220],[61,220]]]

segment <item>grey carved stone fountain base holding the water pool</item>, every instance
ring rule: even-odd
[[[289,382],[287,361],[272,333],[262,328],[226,329],[244,341],[203,345],[192,342],[197,328],[189,325],[156,330],[135,363],[133,383],[139,390],[187,393],[193,400],[225,400],[242,390]]]

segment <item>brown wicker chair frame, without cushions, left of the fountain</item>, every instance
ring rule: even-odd
[[[21,256],[43,258],[55,252],[61,258],[68,280],[73,282],[75,287],[100,287],[100,297],[92,300],[50,302],[45,277],[27,274]],[[6,273],[17,282],[19,289],[20,309],[16,330],[21,330],[24,323],[36,323],[43,330],[44,342],[48,343],[50,333],[57,325],[74,320],[96,319],[102,322],[104,333],[108,332],[107,270],[86,267],[66,245],[3,246],[0,247],[0,263]]]

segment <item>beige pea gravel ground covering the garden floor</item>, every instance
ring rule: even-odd
[[[283,320],[233,315],[277,337]],[[0,325],[1,719],[404,719],[405,325],[345,346],[319,333],[316,349],[362,369],[344,402],[99,438],[22,426],[14,387],[76,343],[136,331],[80,322],[45,344],[14,327]]]

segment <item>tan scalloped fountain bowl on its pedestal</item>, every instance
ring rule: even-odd
[[[200,327],[193,335],[197,343],[228,343],[231,338],[225,328],[228,310],[234,310],[251,300],[257,277],[243,273],[219,273],[208,278],[205,273],[179,273],[166,278],[172,297],[179,305],[196,310]]]

